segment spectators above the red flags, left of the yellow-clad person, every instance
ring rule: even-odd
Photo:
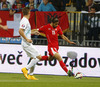
[[[10,11],[13,15],[22,8],[29,7],[31,11],[64,11],[65,0],[1,0],[0,10]]]

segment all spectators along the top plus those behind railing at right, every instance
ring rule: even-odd
[[[92,40],[93,36],[93,40],[99,40],[100,22],[97,23],[97,21],[100,21],[100,16],[96,17],[97,15],[94,15],[94,13],[100,13],[100,0],[1,0],[0,10],[9,11],[10,15],[21,12],[24,7],[29,7],[31,11],[66,11],[69,2],[76,3],[75,11],[92,13],[88,17],[81,14],[80,25],[83,25],[83,21],[86,21],[88,26],[90,26],[87,39]],[[83,16],[84,19],[82,19]],[[94,27],[94,24],[99,26]]]

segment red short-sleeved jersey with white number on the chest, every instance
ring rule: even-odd
[[[46,35],[48,40],[48,49],[50,47],[55,47],[58,50],[58,34],[63,34],[59,25],[56,28],[53,28],[50,24],[42,26],[39,28],[39,32],[43,32]]]

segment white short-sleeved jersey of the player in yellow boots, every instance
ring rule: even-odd
[[[25,17],[23,17],[20,21],[20,28],[24,29],[24,34],[28,39],[31,39],[31,26],[29,23],[29,20]],[[27,47],[29,45],[31,45],[31,43],[28,43],[22,36],[22,46]]]

